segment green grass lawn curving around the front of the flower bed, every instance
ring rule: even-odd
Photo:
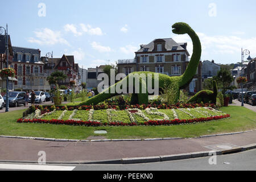
[[[197,123],[195,125],[173,126],[126,126],[126,127],[84,127],[35,123],[16,123],[22,117],[24,110],[11,111],[0,114],[0,135],[23,137],[86,139],[94,134],[95,130],[106,130],[106,138],[162,138],[162,137],[198,137],[216,133],[229,133],[256,129],[256,113],[240,106],[222,107],[220,109],[231,118]]]

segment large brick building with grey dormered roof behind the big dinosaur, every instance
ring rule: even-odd
[[[134,60],[118,60],[118,72],[129,73],[148,71],[168,76],[181,76],[189,63],[187,43],[176,43],[173,39],[155,39],[141,45],[135,52]],[[188,86],[189,92],[198,92],[201,84],[201,61],[196,75]]]

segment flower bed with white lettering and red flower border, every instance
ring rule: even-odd
[[[133,108],[118,110],[77,110],[73,107],[64,107],[57,110],[58,107],[44,108],[35,107],[35,111],[27,117],[18,119],[19,123],[51,123],[62,125],[80,125],[80,126],[138,126],[138,125],[178,125],[182,123],[197,123],[213,121],[230,117],[229,114],[222,113],[213,107],[195,107],[179,109],[157,109],[147,107],[145,110]],[[60,107],[61,108],[61,107]],[[53,110],[52,110],[53,109]]]

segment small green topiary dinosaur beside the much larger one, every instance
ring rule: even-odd
[[[195,96],[191,97],[187,103],[212,103],[216,104],[216,98],[218,94],[217,89],[217,82],[215,80],[212,81],[213,84],[213,91],[212,90],[201,90],[200,92],[196,93]]]

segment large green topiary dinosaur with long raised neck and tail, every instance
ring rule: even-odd
[[[164,88],[164,84],[171,85],[174,90],[176,90],[176,102],[179,100],[180,95],[180,89],[186,88],[189,83],[192,81],[194,75],[196,74],[197,67],[199,65],[200,57],[201,57],[201,43],[199,40],[199,37],[197,36],[196,32],[192,30],[192,28],[187,23],[175,23],[172,26],[172,32],[174,34],[188,34],[193,42],[193,54],[191,56],[191,60],[189,61],[188,67],[185,70],[184,74],[181,76],[175,76],[170,77],[167,75],[163,75],[160,73],[153,73],[153,72],[134,72],[131,74],[137,73],[138,75],[144,74],[146,77],[150,73],[152,75],[152,85],[154,87],[154,77],[156,74],[159,75],[159,87]],[[123,78],[123,80],[119,81],[119,84],[123,82],[124,80],[127,81],[127,86],[129,83],[129,78],[131,77],[131,74],[127,77]],[[134,79],[134,78],[133,78]],[[98,104],[99,102],[103,102],[104,100],[117,96],[117,93],[111,93],[110,90],[113,89],[118,83],[115,85],[112,85],[108,88],[108,93],[105,93],[105,91],[99,93],[97,96],[94,96],[92,98],[89,98],[85,102],[81,102],[80,105],[91,105],[91,104]],[[131,101],[135,102],[136,104],[148,104],[148,92],[142,93],[142,86],[145,86],[147,88],[147,82],[140,81],[140,90],[138,94],[133,94],[131,97]]]

